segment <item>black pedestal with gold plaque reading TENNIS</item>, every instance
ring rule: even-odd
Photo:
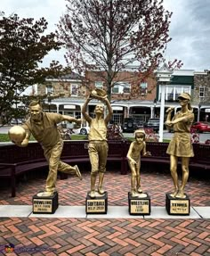
[[[190,215],[190,198],[174,198],[166,194],[166,211],[169,215]]]

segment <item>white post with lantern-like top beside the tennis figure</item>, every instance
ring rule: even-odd
[[[166,63],[157,70],[156,78],[158,85],[161,86],[161,102],[160,102],[160,120],[159,120],[159,142],[163,142],[164,134],[164,111],[165,111],[165,94],[166,94],[166,84],[170,83],[172,78],[172,70],[168,68]]]

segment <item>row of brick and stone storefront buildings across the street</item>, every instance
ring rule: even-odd
[[[195,112],[195,120],[204,120],[210,110],[210,75],[207,72],[195,72],[194,70],[174,70],[171,83],[166,85],[165,108],[174,106],[175,111],[180,109],[177,101],[178,95],[188,92],[192,96],[192,107]],[[44,110],[61,112],[80,118],[81,107],[85,103],[85,96],[94,87],[105,88],[105,80],[100,72],[88,71],[85,78],[77,74],[70,74],[61,79],[48,79],[48,85],[52,86],[52,95],[60,94],[61,97],[44,102]],[[84,84],[87,86],[85,87]],[[130,67],[119,73],[115,86],[111,89],[111,105],[114,111],[113,121],[122,124],[126,117],[147,121],[149,118],[159,117],[161,86],[156,86],[155,76],[142,79],[135,67]],[[47,93],[46,85],[39,85],[39,95]],[[89,104],[89,112],[93,114],[93,100]]]

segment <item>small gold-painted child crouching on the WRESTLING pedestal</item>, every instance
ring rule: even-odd
[[[127,160],[131,169],[131,195],[138,197],[142,194],[141,189],[141,153],[143,156],[149,156],[150,153],[146,152],[145,132],[143,129],[137,129],[134,132],[135,140],[131,143]]]

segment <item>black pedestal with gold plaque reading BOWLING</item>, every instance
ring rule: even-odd
[[[52,196],[39,197],[36,194],[32,199],[33,213],[54,213],[59,207],[59,195],[54,192]]]

